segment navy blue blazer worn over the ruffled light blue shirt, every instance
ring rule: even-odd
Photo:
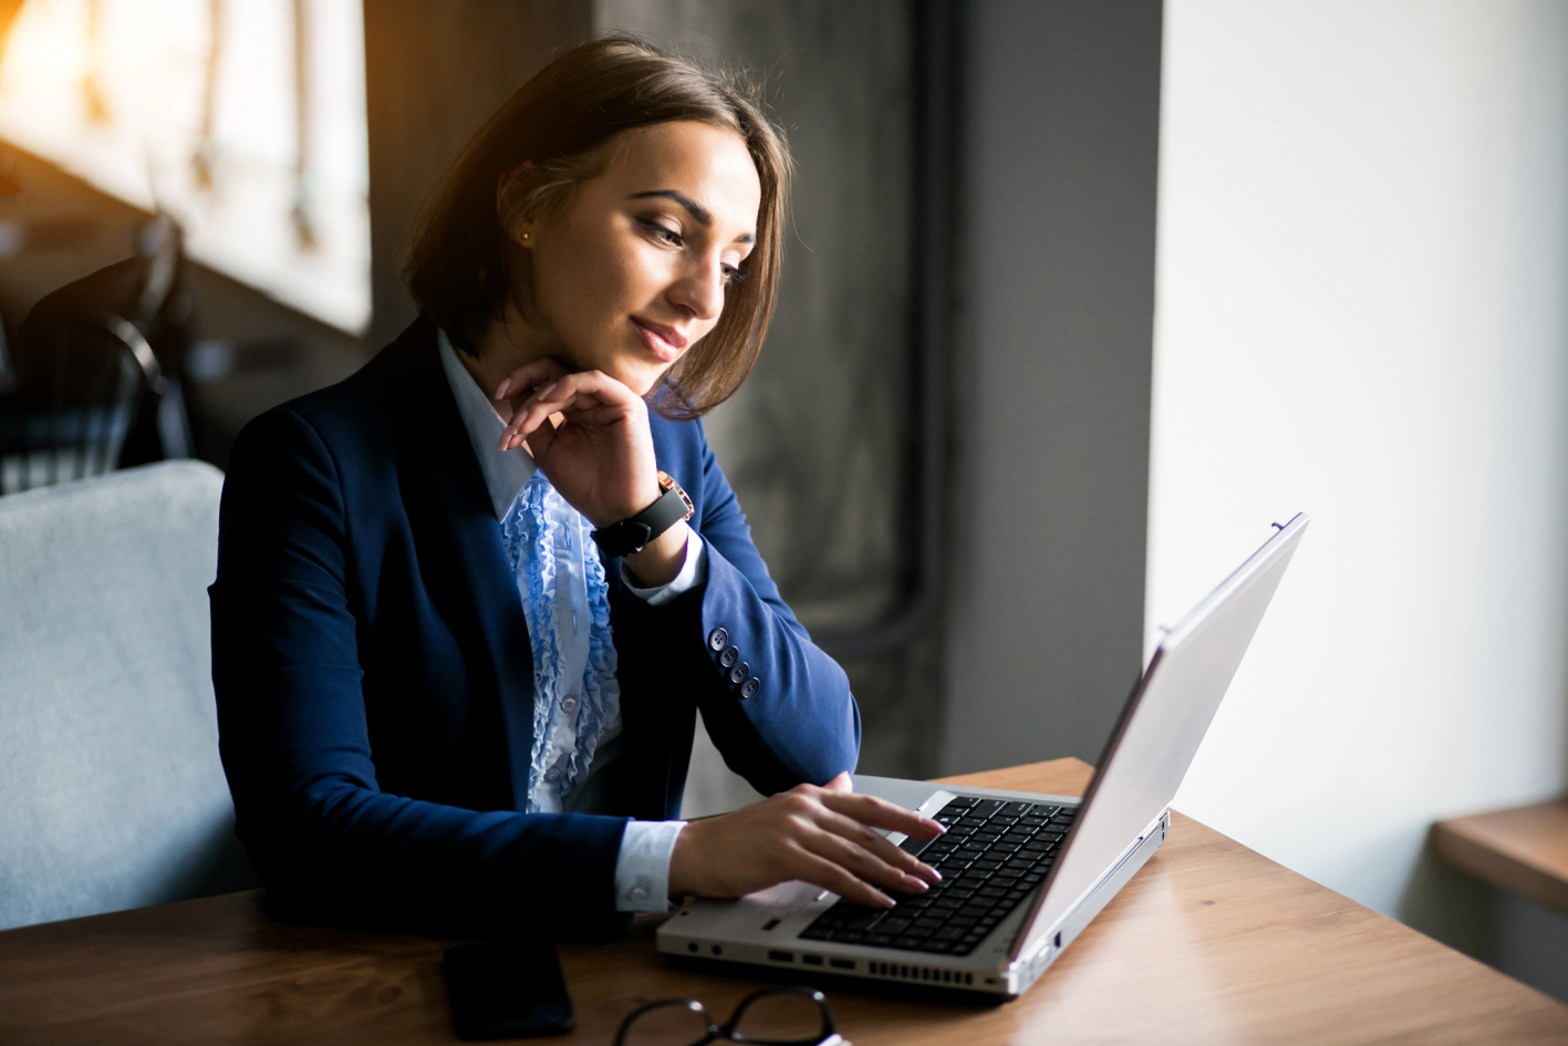
[[[436,328],[240,433],[223,489],[212,668],[237,826],[270,892],[439,932],[618,925],[629,817],[681,809],[696,710],[762,794],[853,770],[844,670],[779,597],[699,422],[652,419],[707,582],[651,607],[610,579],[622,756],[607,815],[521,814],[533,654]],[[718,662],[718,630],[760,688]]]

